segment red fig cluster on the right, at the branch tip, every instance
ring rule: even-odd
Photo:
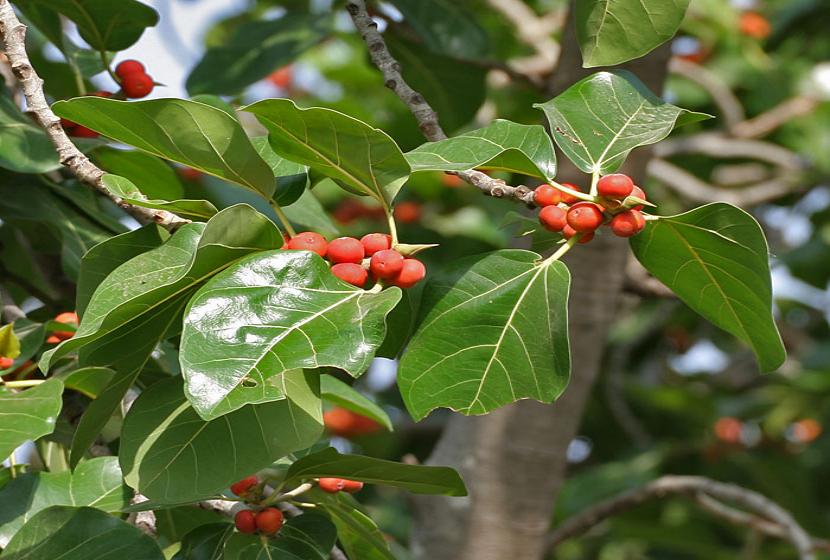
[[[574,191],[580,188],[570,183],[563,183]],[[533,193],[533,200],[539,211],[539,222],[548,231],[561,232],[565,239],[579,235],[579,243],[587,243],[594,238],[594,232],[607,224],[615,235],[631,237],[638,234],[646,225],[642,206],[630,208],[625,203],[632,196],[646,200],[643,190],[634,184],[631,177],[622,173],[605,175],[597,182],[599,202],[580,200],[570,193],[552,185],[540,185]]]

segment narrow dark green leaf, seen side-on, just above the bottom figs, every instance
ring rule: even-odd
[[[467,495],[464,481],[449,467],[425,467],[363,455],[341,455],[333,447],[303,457],[291,465],[285,475],[286,480],[291,481],[321,477],[394,486],[415,494]]]

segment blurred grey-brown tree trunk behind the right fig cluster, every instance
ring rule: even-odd
[[[663,89],[669,49],[624,65],[656,92]],[[582,68],[569,18],[552,95],[597,71]],[[645,176],[648,149],[634,152],[625,171]],[[585,175],[559,154],[558,179]],[[412,550],[423,560],[534,560],[543,554],[556,497],[565,480],[568,445],[579,429],[614,321],[628,258],[625,240],[607,232],[565,258],[571,270],[571,380],[553,405],[520,401],[486,416],[453,415],[430,464],[461,472],[469,498],[418,497]]]

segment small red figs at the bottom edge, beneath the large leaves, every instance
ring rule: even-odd
[[[343,478],[321,478],[317,485],[324,492],[336,494],[337,492],[354,493],[363,488],[363,483],[356,480]],[[262,492],[259,478],[251,475],[231,485],[231,492],[246,502],[256,503],[262,500]],[[273,506],[257,507],[257,509],[241,509],[234,516],[234,525],[240,533],[252,535],[276,535],[285,522],[282,511]]]

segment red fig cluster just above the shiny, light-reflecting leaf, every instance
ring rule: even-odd
[[[393,249],[392,238],[385,233],[370,233],[361,239],[338,237],[329,242],[319,233],[304,231],[282,248],[317,253],[332,264],[332,274],[359,288],[364,288],[370,277],[386,285],[411,288],[427,273],[421,261]]]

